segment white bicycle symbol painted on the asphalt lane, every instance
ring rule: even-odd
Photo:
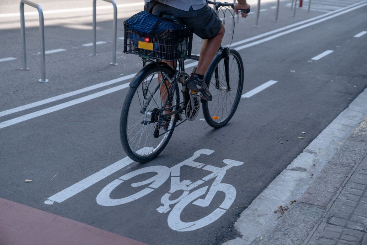
[[[194,153],[192,157],[190,157],[185,161],[180,162],[179,164],[171,168],[168,168],[166,166],[152,166],[127,173],[121,176],[120,178],[113,180],[106,187],[104,187],[101,190],[101,192],[97,195],[96,198],[97,203],[102,206],[116,206],[137,200],[160,187],[171,176],[170,191],[164,194],[163,197],[161,198],[161,204],[163,205],[157,208],[157,211],[159,213],[166,213],[171,210],[170,205],[176,204],[172,208],[170,214],[168,215],[167,220],[168,226],[175,231],[193,231],[202,228],[204,226],[207,226],[208,224],[214,222],[219,217],[221,217],[227,211],[227,209],[229,209],[233,201],[235,201],[236,198],[235,187],[233,187],[231,184],[221,183],[221,181],[228,169],[243,164],[243,162],[224,159],[223,162],[226,164],[226,166],[218,168],[212,165],[206,165],[194,161],[197,157],[200,156],[200,154],[210,155],[213,152],[214,152],[213,150],[208,149],[198,150]],[[205,176],[200,180],[197,180],[196,182],[192,182],[190,180],[183,180],[180,182],[180,168],[184,165],[187,165],[192,168],[204,169],[212,173],[210,173],[209,175]],[[150,173],[150,172],[156,172],[157,175],[147,180],[131,184],[132,187],[139,187],[150,183],[150,185],[145,189],[135,194],[132,194],[128,197],[123,197],[119,199],[110,198],[110,193],[124,181],[129,180],[135,176],[141,175],[143,173]],[[190,193],[190,190],[213,178],[215,179],[210,188],[209,186],[204,186]],[[207,195],[203,198],[199,198],[207,192],[208,188],[209,191]],[[175,200],[170,200],[170,195],[178,190],[182,190],[183,194]],[[225,198],[222,204],[220,204],[217,209],[215,209],[212,213],[199,220],[195,220],[193,222],[181,221],[180,215],[183,209],[186,207],[186,205],[192,203],[197,206],[207,207],[210,205],[211,201],[213,200],[215,194],[218,191],[224,193]]]

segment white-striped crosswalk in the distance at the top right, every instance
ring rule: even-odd
[[[352,4],[360,2],[359,0],[311,0],[310,10],[320,11],[320,12],[331,12],[338,9],[343,9],[344,7],[348,7]],[[308,9],[309,0],[304,0],[302,3],[302,9]],[[291,7],[291,3],[287,4],[288,7]],[[297,8],[299,6],[299,1],[297,1]]]

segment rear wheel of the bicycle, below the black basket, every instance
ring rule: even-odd
[[[167,117],[165,126],[154,136],[161,113],[179,107],[178,86],[171,91],[170,105],[163,105],[172,84],[166,79],[174,76],[172,69],[156,64],[145,66],[135,76],[121,111],[120,139],[128,157],[146,162],[157,157],[170,140],[177,122],[177,114]],[[163,100],[163,102],[162,102]],[[167,111],[167,109],[170,109]],[[166,110],[166,111],[165,111]],[[166,133],[164,133],[166,132]]]

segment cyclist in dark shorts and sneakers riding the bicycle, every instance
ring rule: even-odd
[[[251,7],[246,0],[237,1],[238,3],[234,6],[236,14],[239,9]],[[193,69],[187,87],[191,91],[201,92],[202,99],[212,100],[204,75],[221,45],[224,36],[222,21],[208,6],[206,0],[145,0],[145,2],[145,11],[159,17],[163,14],[170,14],[175,18],[180,18],[186,26],[193,28],[197,36],[204,39],[200,49],[199,63],[197,68]],[[247,17],[247,13],[241,12],[241,15],[243,18]]]

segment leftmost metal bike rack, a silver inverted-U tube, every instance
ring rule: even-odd
[[[46,79],[46,64],[45,64],[45,33],[43,23],[43,12],[41,6],[28,0],[21,0],[20,3],[20,15],[21,15],[21,35],[22,35],[22,63],[21,70],[29,70],[27,68],[27,54],[25,48],[25,23],[24,23],[24,4],[37,8],[39,21],[40,21],[40,39],[41,39],[41,79],[38,80],[41,83],[47,83]]]

